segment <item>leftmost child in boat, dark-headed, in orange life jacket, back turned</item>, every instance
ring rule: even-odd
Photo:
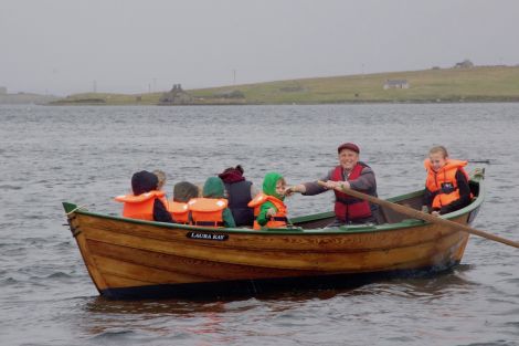
[[[149,221],[173,222],[167,210],[163,191],[159,191],[158,178],[150,171],[142,170],[131,177],[133,195],[117,196],[116,201],[123,202],[123,216],[126,218]]]

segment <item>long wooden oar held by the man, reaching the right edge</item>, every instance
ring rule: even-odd
[[[320,186],[326,185],[325,181],[318,181],[318,184]],[[451,221],[451,220],[442,219],[442,218],[432,216],[430,213],[422,212],[422,211],[419,211],[416,209],[405,207],[405,206],[402,206],[402,205],[393,203],[393,202],[390,202],[390,201],[386,201],[386,200],[383,200],[383,199],[380,199],[380,198],[377,198],[377,197],[373,197],[373,196],[370,196],[370,195],[366,195],[366,193],[362,193],[362,192],[359,192],[359,191],[356,191],[356,190],[352,190],[352,189],[348,189],[346,187],[337,188],[337,190],[341,191],[341,192],[345,192],[345,193],[348,193],[350,196],[360,198],[362,200],[367,200],[367,201],[372,202],[374,205],[379,205],[381,207],[391,209],[393,211],[400,212],[400,213],[402,213],[404,216],[407,216],[410,218],[413,218],[413,219],[424,220],[424,221],[427,221],[427,222],[431,222],[431,223],[436,223],[436,224],[442,224],[442,226],[445,226],[445,227],[451,227],[451,228],[457,229],[459,231],[464,231],[464,232],[467,232],[467,233],[470,233],[470,234],[479,235],[479,237],[483,237],[483,238],[486,238],[486,239],[489,239],[489,240],[494,240],[494,241],[497,241],[497,242],[500,242],[500,243],[504,243],[504,244],[507,244],[507,245],[519,249],[519,242],[515,242],[515,241],[511,241],[509,239],[505,239],[505,238],[494,235],[494,234],[490,234],[490,233],[487,233],[487,232],[484,232],[484,231],[480,231],[480,230],[476,230],[476,229],[474,229],[472,227],[468,227],[466,224],[462,224],[462,223],[457,223],[457,222],[454,222],[454,221]]]

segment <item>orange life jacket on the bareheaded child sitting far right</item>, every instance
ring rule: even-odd
[[[425,159],[424,167],[427,170],[425,187],[431,192],[436,192],[432,203],[433,209],[441,209],[443,206],[448,206],[460,198],[456,171],[459,169],[468,180],[468,175],[463,168],[465,166],[467,166],[467,161],[447,159],[445,166],[439,168],[438,171],[434,171],[431,160]]]

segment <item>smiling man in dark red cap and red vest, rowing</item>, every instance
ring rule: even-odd
[[[359,161],[360,149],[353,143],[343,143],[338,148],[339,165],[328,171],[321,179],[325,185],[317,181],[305,182],[289,187],[287,195],[300,192],[305,196],[314,196],[328,190],[336,195],[335,213],[336,220],[328,227],[345,224],[377,223],[379,207],[364,200],[340,192],[337,188],[349,188],[373,197],[377,196],[377,180],[374,172],[362,161]]]

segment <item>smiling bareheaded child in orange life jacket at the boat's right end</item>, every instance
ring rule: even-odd
[[[470,203],[467,161],[448,158],[443,146],[433,147],[424,166],[427,170],[422,211],[438,216],[462,209]]]

